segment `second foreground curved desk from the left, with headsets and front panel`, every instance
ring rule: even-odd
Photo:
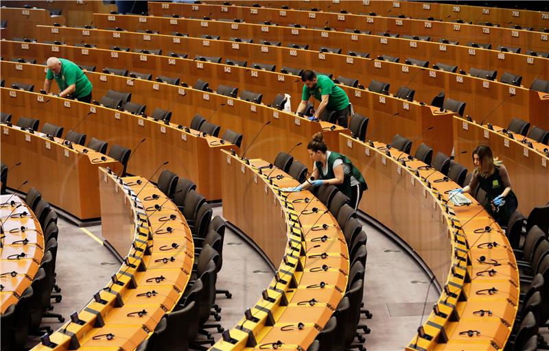
[[[119,250],[129,248],[128,254],[112,281],[78,313],[80,322],[54,332],[54,347],[40,344],[32,350],[135,350],[173,310],[189,282],[194,243],[177,206],[143,177],[119,178],[101,168],[99,179],[103,234],[126,245]],[[162,209],[155,210],[156,204]],[[168,225],[174,228],[169,234]],[[166,245],[172,248],[163,250]],[[164,263],[171,257],[174,261]]]

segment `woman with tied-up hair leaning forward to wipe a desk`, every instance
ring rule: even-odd
[[[339,191],[351,199],[350,206],[358,208],[362,193],[368,189],[366,181],[360,171],[346,156],[338,152],[328,151],[321,132],[314,134],[307,145],[309,157],[314,161],[311,178],[295,188],[282,189],[283,191],[301,191],[309,186],[323,184],[335,185]]]

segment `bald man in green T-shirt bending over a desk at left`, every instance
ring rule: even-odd
[[[48,58],[44,90],[49,93],[51,81],[56,80],[59,86],[59,97],[71,95],[78,101],[91,102],[93,86],[80,67],[65,58]]]

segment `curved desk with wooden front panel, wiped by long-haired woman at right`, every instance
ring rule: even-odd
[[[469,206],[447,201],[458,185],[407,154],[344,135],[340,149],[369,182],[360,209],[419,255],[443,286],[406,350],[502,349],[515,322],[519,275],[500,226],[470,195]],[[493,314],[481,316],[482,308]]]

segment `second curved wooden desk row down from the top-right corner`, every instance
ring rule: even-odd
[[[264,5],[264,3],[260,3]],[[278,3],[277,3],[278,5]],[[269,5],[268,5],[269,6]],[[353,9],[354,10],[354,9]],[[334,11],[334,10],[331,10]],[[150,3],[149,13],[152,16],[172,16],[178,14],[187,18],[240,19],[248,23],[270,21],[279,25],[299,23],[307,27],[332,27],[341,32],[344,29],[359,29],[390,34],[408,34],[410,36],[430,36],[434,42],[439,39],[457,40],[460,42],[491,43],[495,49],[498,45],[506,47],[521,47],[533,51],[546,51],[548,43],[544,40],[546,34],[530,32],[524,29],[505,27],[483,27],[482,25],[448,23],[419,19],[395,19],[382,16],[365,16],[360,14],[342,14],[336,12],[314,12],[309,10],[279,10],[277,8],[248,6],[227,6],[209,3]],[[427,23],[427,24],[425,24]],[[531,24],[528,24],[531,25]],[[545,35],[545,36],[544,36]]]

